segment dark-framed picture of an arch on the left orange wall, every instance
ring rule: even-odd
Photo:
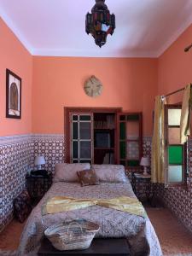
[[[6,117],[21,118],[21,79],[6,69]]]

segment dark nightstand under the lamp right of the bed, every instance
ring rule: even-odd
[[[148,201],[151,203],[151,200],[154,196],[153,183],[151,183],[151,176],[143,175],[143,173],[132,173],[132,189],[137,195],[137,198],[140,201]]]

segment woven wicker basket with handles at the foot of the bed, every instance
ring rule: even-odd
[[[75,219],[50,226],[44,231],[44,235],[58,250],[82,250],[90,247],[98,230],[98,224],[85,219]]]

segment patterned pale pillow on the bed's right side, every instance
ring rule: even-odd
[[[96,177],[104,183],[126,183],[125,167],[120,165],[93,165]]]

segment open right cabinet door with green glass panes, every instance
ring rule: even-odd
[[[142,113],[118,113],[118,163],[128,171],[139,168],[143,152]]]

